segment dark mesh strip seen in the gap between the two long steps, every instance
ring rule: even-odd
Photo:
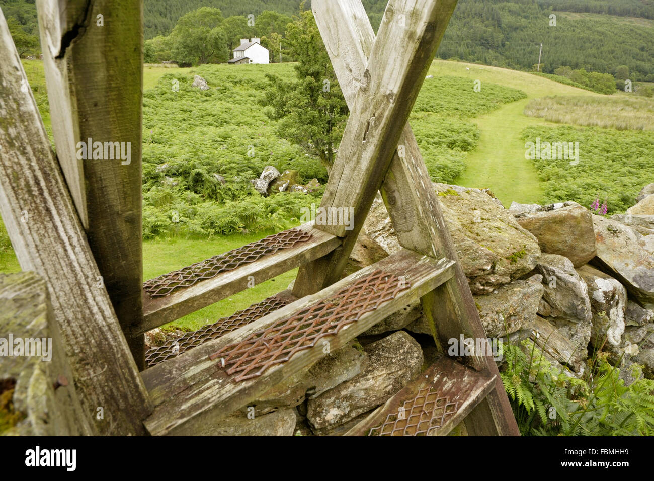
[[[167,341],[162,346],[152,347],[145,353],[145,365],[150,368],[157,365],[166,359],[171,359],[191,347],[199,346],[203,342],[217,339],[224,336],[232,330],[239,329],[249,323],[264,317],[271,312],[275,312],[279,308],[283,308],[289,304],[290,299],[283,299],[277,296],[269,297],[258,304],[252,304],[249,308],[236,312],[230,317],[224,317],[216,323],[207,325],[202,329],[193,332],[186,332],[178,339]]]

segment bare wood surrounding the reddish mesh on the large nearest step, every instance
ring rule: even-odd
[[[152,416],[145,421],[148,431],[152,435],[193,433],[194,426],[220,421],[262,395],[267,389],[325,355],[322,342],[318,342],[311,349],[299,351],[285,363],[271,366],[258,378],[235,382],[220,368],[218,359],[211,361],[208,358],[221,347],[239,342],[253,332],[266,329],[320,300],[330,298],[358,279],[370,276],[375,270],[405,276],[409,289],[398,293],[395,298],[381,304],[376,310],[363,313],[358,321],[344,327],[335,336],[325,338],[330,342],[330,349],[338,349],[364,330],[449,279],[452,266],[453,262],[450,260],[436,260],[403,249],[313,296],[302,298],[241,329],[194,347],[175,359],[163,361],[146,370],[143,372],[143,379],[156,405]]]

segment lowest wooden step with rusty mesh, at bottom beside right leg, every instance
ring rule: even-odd
[[[441,357],[345,436],[445,436],[495,387],[496,376]]]

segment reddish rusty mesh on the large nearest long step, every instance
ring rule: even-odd
[[[230,376],[235,374],[235,382],[256,378],[267,368],[288,361],[298,351],[315,346],[321,338],[337,334],[408,288],[404,278],[376,270],[334,296],[281,319],[267,329],[253,332],[245,340],[225,346],[209,358],[220,358],[218,366],[225,368]]]

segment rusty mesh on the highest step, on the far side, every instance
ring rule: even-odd
[[[233,251],[216,255],[175,272],[169,272],[169,274],[150,279],[143,284],[143,289],[150,297],[168,296],[177,289],[190,287],[203,279],[211,279],[221,272],[249,264],[266,255],[281,251],[281,249],[294,247],[298,242],[304,242],[310,238],[310,232],[300,229],[284,230],[284,232],[249,243]]]

